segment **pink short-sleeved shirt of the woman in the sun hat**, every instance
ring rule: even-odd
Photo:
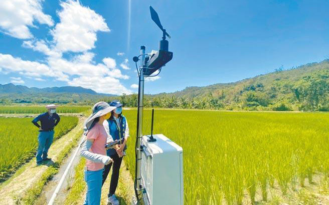
[[[106,155],[106,139],[107,133],[103,125],[96,123],[87,133],[87,139],[94,139],[92,146],[89,151],[93,153],[98,153]],[[104,167],[102,162],[93,162],[89,159],[86,159],[86,166],[88,170],[97,171]]]

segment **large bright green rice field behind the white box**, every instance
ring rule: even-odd
[[[136,110],[124,110],[127,156],[134,176]],[[151,110],[144,110],[143,134]],[[183,147],[185,204],[272,200],[329,174],[329,113],[155,110],[153,133]],[[260,197],[260,199],[259,199]],[[307,203],[307,202],[306,202]]]

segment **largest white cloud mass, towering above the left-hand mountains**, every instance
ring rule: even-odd
[[[129,76],[121,73],[115,59],[105,57],[100,63],[93,60],[95,53],[90,49],[95,47],[97,31],[110,31],[105,19],[78,1],[60,1],[60,5],[62,8],[57,12],[60,21],[50,32],[53,40],[34,38],[22,44],[23,47],[46,54],[44,62],[22,60],[0,53],[0,71],[18,72],[39,81],[45,80],[44,77],[54,77],[69,85],[83,86],[97,92],[132,93],[121,84],[119,79],[128,79]],[[70,53],[70,59],[63,57],[67,51],[73,52]],[[123,64],[129,69],[128,59]]]

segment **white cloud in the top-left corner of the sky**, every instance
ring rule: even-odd
[[[30,27],[34,22],[52,26],[52,17],[43,13],[43,0],[2,0],[0,6],[0,28],[4,33],[17,38],[32,38]]]

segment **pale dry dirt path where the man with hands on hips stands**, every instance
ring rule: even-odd
[[[71,142],[73,136],[81,131],[84,119],[84,117],[79,118],[76,127],[51,145],[48,154],[53,161],[56,161],[61,150]],[[10,179],[0,185],[0,204],[20,202],[26,191],[40,179],[47,168],[47,164],[36,166],[35,158],[23,165]]]

